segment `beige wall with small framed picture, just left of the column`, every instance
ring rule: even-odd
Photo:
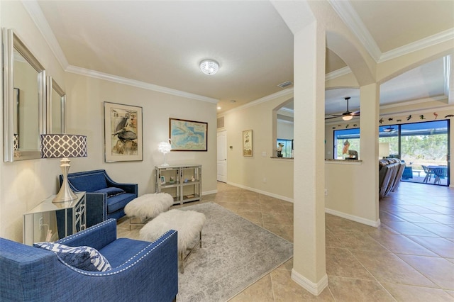
[[[224,116],[222,130],[227,131],[228,184],[292,201],[293,160],[270,158],[276,149],[272,141],[272,111],[291,97],[292,94],[277,96],[220,115]],[[250,129],[254,153],[253,157],[244,157],[243,130]]]

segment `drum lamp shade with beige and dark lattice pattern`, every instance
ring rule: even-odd
[[[42,134],[41,158],[87,157],[87,136]]]

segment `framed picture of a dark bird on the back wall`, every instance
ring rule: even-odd
[[[142,107],[104,102],[106,162],[143,160]]]

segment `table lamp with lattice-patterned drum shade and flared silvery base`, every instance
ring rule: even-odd
[[[70,160],[68,157],[87,157],[87,136],[73,134],[42,134],[40,135],[41,158],[61,158],[60,168],[63,182],[54,203],[72,201],[77,198],[68,184]]]

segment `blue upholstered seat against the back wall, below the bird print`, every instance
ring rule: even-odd
[[[63,175],[60,175],[60,186],[62,182]],[[87,192],[87,227],[125,216],[126,204],[138,196],[137,184],[119,184],[106,170],[70,173],[68,183],[74,192]]]

